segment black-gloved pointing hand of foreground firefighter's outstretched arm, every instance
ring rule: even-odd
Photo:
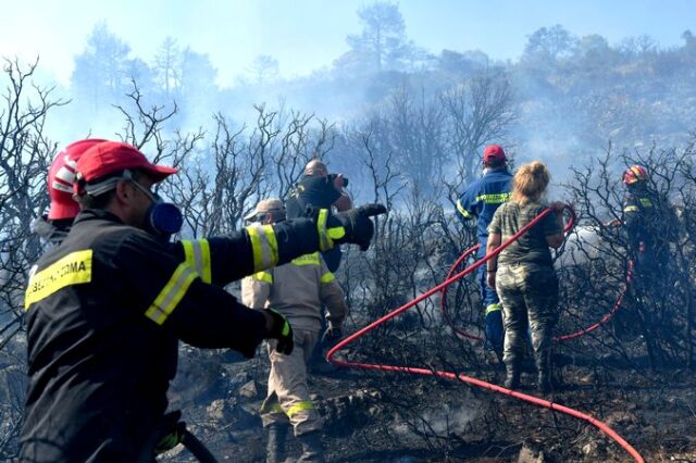
[[[370,217],[386,212],[387,209],[382,204],[365,204],[336,214],[326,209],[313,211],[312,215],[319,229],[320,250],[327,251],[337,243],[350,242],[366,251],[374,234],[374,225]]]

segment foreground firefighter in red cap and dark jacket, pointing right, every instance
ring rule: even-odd
[[[178,339],[247,356],[264,338],[293,350],[279,313],[249,310],[204,281],[236,279],[337,242],[366,249],[369,216],[384,212],[316,211],[295,225],[248,227],[210,242],[234,256],[215,262],[204,240],[179,243],[179,255],[166,246],[181,212],[150,188],[176,170],[151,164],[127,143],[101,142],[76,171],[82,212],[33,267],[25,296],[22,462],[153,461]]]

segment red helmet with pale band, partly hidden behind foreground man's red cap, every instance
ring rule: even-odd
[[[48,193],[51,197],[51,205],[48,211],[50,221],[74,218],[77,215],[79,205],[73,200],[75,192],[73,182],[75,180],[77,160],[89,148],[103,141],[107,140],[88,138],[75,141],[55,155],[48,171]]]

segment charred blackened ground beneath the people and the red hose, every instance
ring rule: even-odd
[[[635,340],[639,345],[639,339]],[[630,348],[630,347],[629,347]],[[599,359],[596,356],[599,355]],[[263,461],[257,411],[268,361],[185,349],[173,406],[221,461]],[[646,462],[696,461],[696,375],[680,365],[650,371],[644,359],[561,349],[547,399],[602,421]],[[413,365],[420,366],[420,365]],[[502,372],[460,373],[500,384]],[[476,374],[478,376],[476,376]],[[522,392],[537,397],[531,363]],[[336,371],[310,389],[326,420],[333,462],[625,462],[631,456],[586,422],[512,398],[435,377]],[[299,454],[290,442],[290,453]],[[161,461],[194,461],[181,446]]]

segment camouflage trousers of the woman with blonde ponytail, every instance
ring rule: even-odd
[[[524,355],[527,328],[536,366],[550,367],[554,327],[558,321],[558,278],[550,265],[499,264],[496,290],[502,303],[506,365]]]

